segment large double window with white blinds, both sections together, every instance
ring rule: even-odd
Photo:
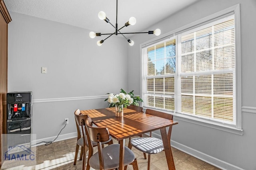
[[[142,46],[143,107],[241,129],[237,44],[232,13]]]

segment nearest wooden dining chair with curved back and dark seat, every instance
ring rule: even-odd
[[[119,153],[120,145],[112,144],[102,148],[102,143],[108,140],[109,132],[107,128],[104,127],[93,127],[92,119],[88,117],[82,125],[85,125],[85,129],[89,148],[92,149],[93,142],[97,142],[98,152],[93,155],[90,155],[90,159],[87,163],[86,169],[88,166],[96,170],[112,170],[119,168]],[[92,154],[90,152],[90,154]],[[128,147],[124,147],[124,166],[132,164],[134,170],[138,170],[138,163],[134,156],[132,150]]]

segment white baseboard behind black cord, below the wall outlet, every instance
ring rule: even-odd
[[[34,146],[39,146],[39,145],[44,145],[47,142],[53,141],[56,137],[57,136],[48,137],[48,138],[44,138],[44,139],[36,139],[34,141],[31,141],[31,145],[33,145],[33,147]],[[64,135],[59,135],[58,138],[54,142],[63,141],[63,140],[74,138],[74,137],[77,137],[77,132],[67,133],[67,134],[64,134]],[[40,143],[40,142],[42,142],[42,143]]]

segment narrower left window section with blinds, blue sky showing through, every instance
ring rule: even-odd
[[[176,40],[144,48],[143,101],[146,106],[174,110]]]

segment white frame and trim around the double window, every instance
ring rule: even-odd
[[[210,128],[214,128],[214,129],[218,129],[218,130],[222,130],[222,131],[227,131],[230,133],[234,133],[234,134],[238,134],[238,135],[243,135],[243,129],[242,129],[242,106],[241,106],[241,46],[240,46],[240,4],[234,5],[230,8],[227,8],[225,10],[222,10],[220,12],[216,12],[215,14],[212,14],[210,16],[207,16],[205,18],[202,18],[198,21],[195,21],[193,23],[190,23],[188,25],[185,25],[183,27],[180,27],[178,29],[175,29],[174,31],[170,31],[164,35],[161,35],[160,37],[154,38],[150,41],[146,41],[145,43],[140,44],[140,53],[141,53],[141,87],[140,87],[140,95],[143,95],[142,89],[143,89],[143,74],[144,74],[144,59],[143,59],[143,48],[153,45],[155,43],[160,43],[161,41],[168,41],[167,39],[174,37],[176,39],[176,41],[178,40],[178,35],[182,34],[183,32],[192,30],[196,27],[200,27],[203,25],[207,25],[208,23],[212,23],[216,20],[220,20],[221,18],[225,18],[226,16],[230,16],[234,14],[234,21],[235,21],[235,55],[236,55],[236,125],[227,125],[227,124],[223,124],[223,123],[218,123],[218,122],[214,122],[214,121],[209,121],[207,119],[203,119],[203,118],[197,118],[197,117],[192,117],[190,115],[185,115],[182,113],[178,113],[176,112],[176,110],[174,112],[171,112],[174,115],[174,119],[177,120],[181,120],[181,121],[186,121],[186,122],[190,122],[190,123],[194,123],[194,124],[198,124],[198,125],[203,125],[206,127],[210,127]],[[176,42],[177,43],[177,42]],[[176,45],[176,57],[178,56],[178,45]],[[176,62],[176,68],[177,68],[177,62]],[[176,77],[176,73],[174,76],[174,79],[177,78]],[[174,81],[174,86],[177,87],[177,82],[178,81]],[[178,88],[174,88],[174,96],[176,98],[176,94],[177,93]],[[143,104],[143,103],[142,103]],[[174,102],[175,104],[175,108],[177,108],[177,104],[178,102]],[[145,108],[152,108],[152,107],[146,107]],[[156,108],[153,108],[156,109]],[[162,110],[162,109],[157,109],[157,110],[161,110],[164,112],[168,112],[166,110]],[[169,111],[170,112],[170,111]]]

